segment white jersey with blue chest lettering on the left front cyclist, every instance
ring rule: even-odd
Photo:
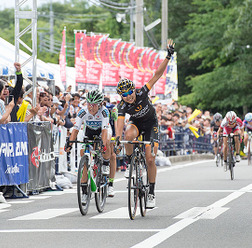
[[[91,130],[103,130],[110,129],[109,124],[109,111],[106,107],[102,106],[96,115],[91,115],[88,112],[88,108],[84,107],[79,111],[74,124],[74,129],[80,130],[82,123],[84,127]],[[85,130],[83,130],[85,132]]]

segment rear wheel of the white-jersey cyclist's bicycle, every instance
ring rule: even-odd
[[[107,176],[102,175],[101,172],[101,162],[97,162],[98,166],[98,175],[96,176],[96,186],[97,186],[97,192],[95,192],[95,205],[97,208],[97,211],[99,213],[102,213],[106,204],[107,199]]]

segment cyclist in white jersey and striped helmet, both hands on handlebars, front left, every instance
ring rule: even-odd
[[[104,175],[109,175],[109,158],[111,155],[110,140],[112,131],[109,124],[109,112],[108,109],[103,106],[103,100],[104,96],[98,89],[88,92],[86,97],[87,106],[85,106],[78,112],[76,123],[73,127],[73,131],[69,140],[76,140],[82,123],[84,123],[84,135],[88,137],[88,139],[93,140],[95,136],[101,136],[104,145],[102,173]],[[67,142],[65,151],[69,152],[71,148],[72,143]],[[82,149],[80,151],[80,155],[83,156],[84,152],[84,149]],[[87,179],[87,174],[83,173],[83,176],[81,178],[81,183],[84,185],[82,186],[82,204],[86,203],[87,186],[85,185],[85,183],[87,182]]]

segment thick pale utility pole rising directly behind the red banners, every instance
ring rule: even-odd
[[[135,39],[138,47],[143,47],[144,45],[143,30],[143,0],[136,0]]]

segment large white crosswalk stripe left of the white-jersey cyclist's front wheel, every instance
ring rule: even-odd
[[[43,211],[35,212],[19,216],[10,220],[48,220],[60,215],[69,214],[79,210],[78,208],[58,208],[58,209],[46,209]]]

